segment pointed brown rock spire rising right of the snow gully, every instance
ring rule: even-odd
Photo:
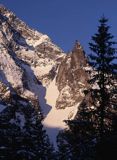
[[[84,90],[88,87],[87,59],[79,42],[71,53],[61,62],[57,74],[59,97],[56,107],[72,107],[84,97]]]

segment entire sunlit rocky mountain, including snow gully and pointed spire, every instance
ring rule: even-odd
[[[29,101],[36,109],[41,107],[45,128],[59,131],[65,128],[63,120],[77,113],[88,88],[89,69],[78,42],[65,54],[47,35],[29,28],[0,6],[1,104],[15,94],[26,101],[22,104]]]

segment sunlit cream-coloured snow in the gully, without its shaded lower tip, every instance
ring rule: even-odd
[[[57,109],[55,107],[56,100],[59,95],[59,91],[55,84],[55,79],[51,82],[51,84],[47,88],[45,99],[47,101],[47,104],[52,106],[52,108],[48,113],[47,117],[45,117],[43,124],[48,127],[57,127],[63,129],[66,127],[63,121],[68,118],[69,119],[74,118],[74,112],[76,112],[77,109],[76,106],[66,107],[65,109]]]

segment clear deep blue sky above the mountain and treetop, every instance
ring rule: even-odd
[[[117,0],[1,0],[0,3],[30,27],[49,35],[64,51],[71,50],[78,40],[88,53],[88,42],[103,14],[109,18],[111,32],[117,37]]]

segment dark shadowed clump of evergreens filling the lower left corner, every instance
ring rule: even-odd
[[[26,99],[15,96],[4,102],[6,108],[0,112],[0,159],[53,160],[40,114]]]

